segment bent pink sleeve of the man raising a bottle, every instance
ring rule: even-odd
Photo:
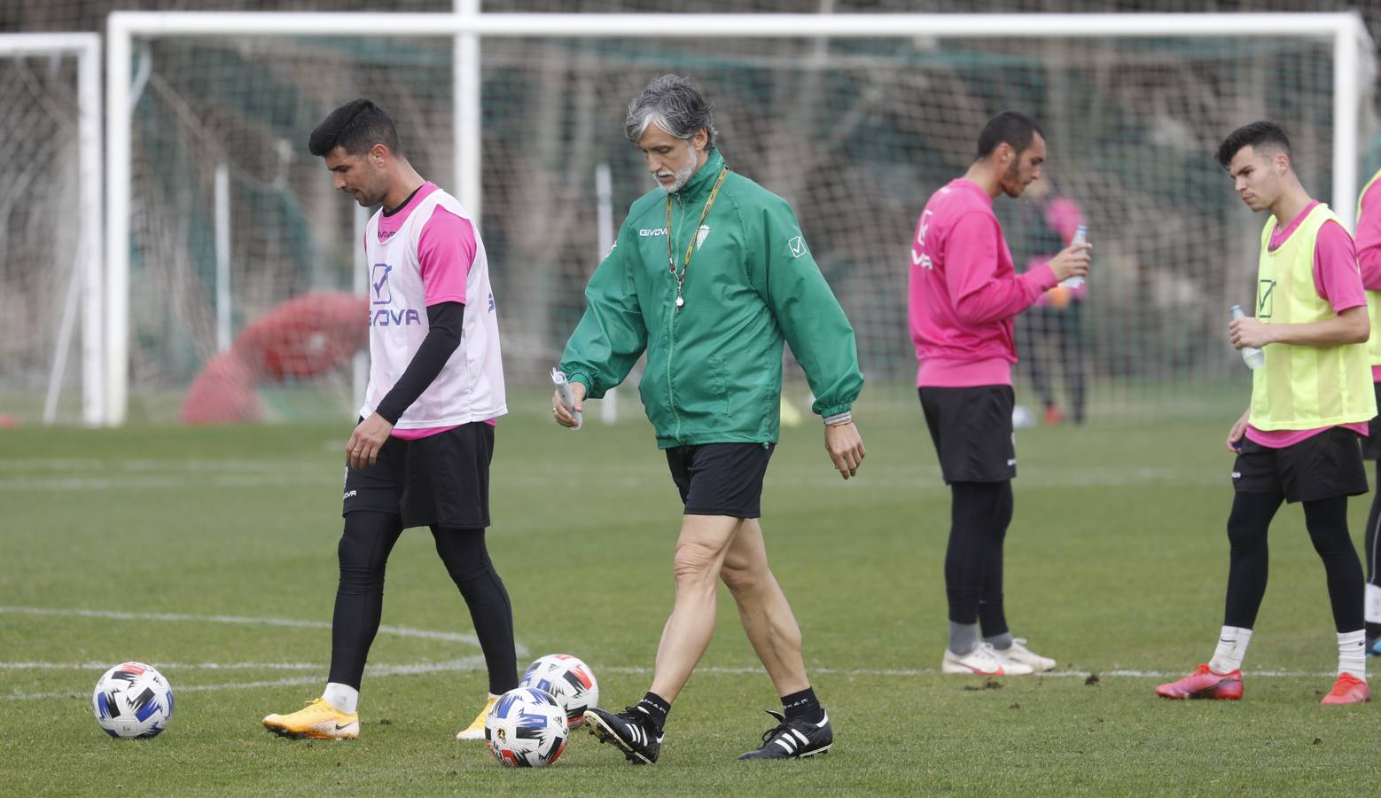
[[[945,282],[954,297],[954,316],[965,324],[1008,319],[1055,287],[1050,264],[1005,278],[997,276],[1003,232],[997,220],[971,213],[956,222],[945,253]]]

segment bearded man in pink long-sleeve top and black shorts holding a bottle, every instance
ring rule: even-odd
[[[911,341],[925,424],[952,493],[945,554],[949,598],[946,674],[1048,671],[1055,660],[1012,638],[1003,610],[1003,541],[1012,519],[1012,319],[1055,283],[1088,273],[1088,244],[1023,275],[993,214],[1040,178],[1045,137],[1004,110],[983,126],[964,177],[931,195],[911,242]],[[982,639],[979,625],[982,624]]]

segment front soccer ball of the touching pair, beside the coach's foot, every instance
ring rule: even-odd
[[[566,750],[570,728],[557,699],[537,688],[514,688],[499,696],[485,717],[489,752],[508,768],[544,768]]]

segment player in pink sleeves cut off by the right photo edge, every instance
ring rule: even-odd
[[[1367,290],[1367,305],[1371,316],[1371,340],[1367,341],[1367,355],[1371,360],[1371,380],[1377,403],[1381,405],[1381,330],[1377,327],[1381,315],[1381,171],[1371,175],[1362,197],[1358,200],[1358,266],[1362,269],[1362,284]],[[1373,418],[1369,435],[1362,439],[1362,454],[1377,461],[1381,478],[1381,417]],[[1381,490],[1371,497],[1371,512],[1367,515],[1364,538],[1367,555],[1366,592],[1366,649],[1369,657],[1381,656],[1381,551],[1377,551],[1377,536],[1381,534]]]

